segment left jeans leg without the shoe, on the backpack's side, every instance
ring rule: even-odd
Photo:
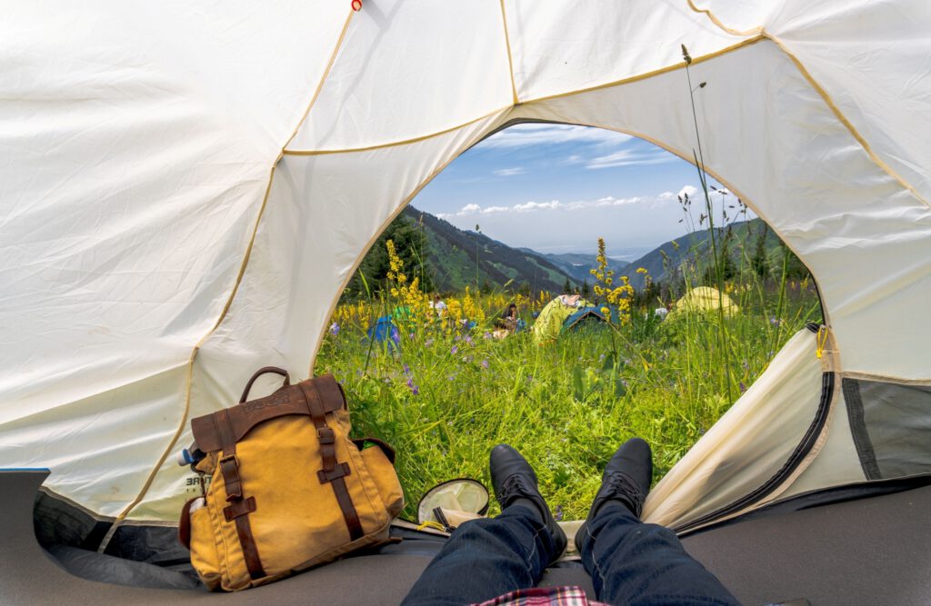
[[[511,505],[452,532],[402,603],[461,606],[536,586],[556,548],[535,511]]]

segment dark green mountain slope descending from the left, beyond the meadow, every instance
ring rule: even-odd
[[[441,291],[459,291],[466,286],[501,287],[509,280],[518,290],[526,284],[532,292],[562,291],[566,280],[576,280],[545,255],[530,249],[513,249],[476,232],[458,229],[413,207],[403,215],[423,229],[429,242],[427,265],[434,285]]]

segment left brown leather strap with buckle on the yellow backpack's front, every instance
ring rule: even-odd
[[[266,575],[248,516],[250,512],[255,511],[255,497],[243,498],[242,480],[239,478],[239,460],[236,458],[236,433],[226,409],[212,416],[223,447],[220,473],[223,475],[226,488],[226,501],[230,504],[223,508],[223,516],[226,517],[226,521],[236,519],[236,535],[242,547],[243,559],[246,560],[246,568],[249,569],[252,579],[261,579]]]

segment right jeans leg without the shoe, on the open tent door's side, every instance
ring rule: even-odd
[[[644,524],[619,502],[603,505],[576,537],[595,595],[609,604],[739,604],[689,556],[675,532]]]

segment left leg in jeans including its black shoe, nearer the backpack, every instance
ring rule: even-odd
[[[565,549],[566,535],[519,452],[500,444],[489,466],[501,515],[456,529],[404,599],[406,606],[481,602],[535,586]]]

